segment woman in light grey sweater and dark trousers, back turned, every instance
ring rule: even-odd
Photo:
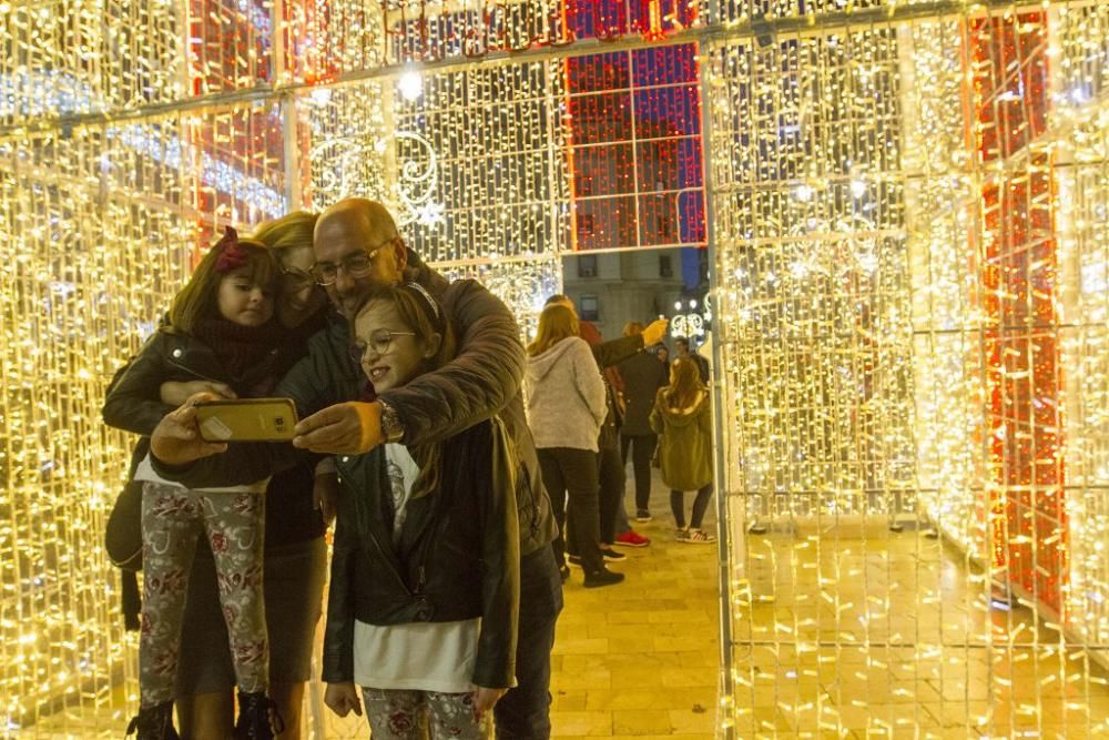
[[[554,558],[566,579],[567,517],[576,533],[586,587],[619,584],[623,575],[604,567],[600,546],[597,437],[604,422],[604,381],[589,344],[578,337],[578,317],[552,304],[539,316],[528,345],[525,393],[539,467],[559,524]],[[568,501],[569,499],[569,501]]]

